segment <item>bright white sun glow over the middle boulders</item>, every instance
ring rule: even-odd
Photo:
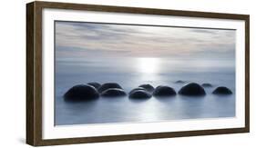
[[[145,74],[156,74],[159,72],[159,58],[140,57],[138,58],[138,71]]]

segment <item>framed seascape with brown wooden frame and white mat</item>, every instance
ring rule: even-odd
[[[248,133],[249,15],[26,5],[26,143]]]

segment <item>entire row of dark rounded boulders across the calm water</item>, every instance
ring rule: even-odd
[[[185,83],[184,81],[177,81],[178,84]],[[188,96],[205,95],[204,87],[212,87],[212,84],[186,84],[180,88],[178,94]],[[154,88],[151,84],[141,84],[137,88],[132,89],[128,93],[130,99],[148,99],[152,95],[155,97],[168,97],[176,95],[176,91],[168,85],[159,85]],[[232,94],[229,88],[220,86],[217,87],[212,94]],[[97,99],[99,96],[117,97],[125,96],[127,93],[117,83],[98,84],[96,82],[88,84],[78,84],[70,88],[64,97],[67,100],[91,100]]]

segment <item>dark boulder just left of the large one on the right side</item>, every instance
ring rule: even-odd
[[[170,95],[176,95],[176,92],[173,88],[169,86],[160,85],[158,86],[153,95],[155,96],[170,96]]]

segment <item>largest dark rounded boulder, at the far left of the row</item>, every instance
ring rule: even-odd
[[[97,89],[88,84],[77,84],[64,94],[64,98],[70,101],[90,100],[98,97]]]

